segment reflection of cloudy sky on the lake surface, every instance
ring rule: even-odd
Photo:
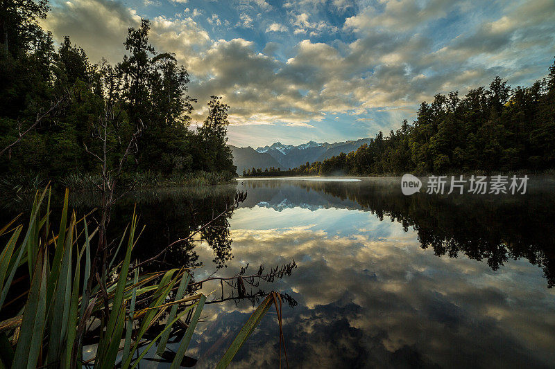
[[[298,264],[268,287],[299,303],[284,309],[292,367],[547,367],[555,359],[555,295],[526,260],[492,271],[464,255],[438,258],[415,232],[360,210],[239,208],[231,228],[230,275],[246,262]],[[201,260],[211,253],[198,248]],[[213,366],[252,309],[207,306],[194,348],[201,366]],[[277,330],[275,315],[264,318],[234,366],[275,366]]]

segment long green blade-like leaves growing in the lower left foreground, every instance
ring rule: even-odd
[[[0,254],[0,314],[6,305],[17,303],[18,297],[6,301],[14,292],[15,276],[30,280],[19,312],[0,322],[0,368],[81,368],[84,363],[135,368],[155,344],[157,355],[178,368],[206,296],[187,292],[191,275],[183,268],[139,273],[137,261],[132,262],[141,232],[135,213],[121,235],[123,260],[116,263],[113,255],[108,268],[94,272],[91,242],[97,229],[89,229],[86,217],[69,213],[68,195],[66,190],[56,235],[51,229],[49,187],[35,195],[26,228],[16,225],[18,219],[0,228],[0,236],[8,239]],[[253,313],[223,353],[219,368],[228,366],[272,299],[278,309],[276,297],[268,295]],[[155,331],[154,339],[147,339],[164,316],[167,323]],[[170,332],[183,318],[187,328],[178,350],[167,352]],[[96,345],[93,357],[83,358],[84,339]]]

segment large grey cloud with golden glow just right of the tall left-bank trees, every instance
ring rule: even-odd
[[[225,96],[232,116],[245,124],[280,120],[307,123],[323,118],[318,107],[312,106],[311,96],[299,92],[309,84],[318,88],[314,84],[318,81],[308,82],[309,75],[299,80],[294,66],[256,53],[253,43],[245,39],[214,42],[203,55],[191,60],[189,69],[198,78],[191,93]]]

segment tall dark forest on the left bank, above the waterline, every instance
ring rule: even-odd
[[[129,28],[121,62],[92,64],[65,37],[42,30],[47,2],[8,1],[0,10],[0,171],[64,181],[98,173],[106,154],[123,174],[234,176],[226,145],[228,105],[212,96],[196,130],[189,75],[172,53],[148,42],[150,22]],[[122,35],[123,36],[123,35]]]

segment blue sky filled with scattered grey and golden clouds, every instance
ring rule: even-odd
[[[123,57],[128,27],[191,76],[193,126],[210,96],[230,105],[229,143],[373,137],[412,122],[436,93],[544,78],[555,1],[51,0],[43,21],[91,62]]]

